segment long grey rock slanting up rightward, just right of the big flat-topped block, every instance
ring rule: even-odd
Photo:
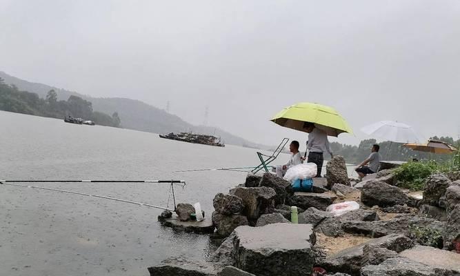
[[[341,250],[330,257],[327,257],[323,263],[319,264],[329,273],[342,272],[351,275],[359,275],[363,262],[368,262],[372,257],[366,257],[364,253],[365,246],[376,246],[386,248],[397,253],[413,246],[412,241],[403,235],[388,235],[379,239],[372,239],[369,242]],[[368,252],[369,253],[369,252]]]

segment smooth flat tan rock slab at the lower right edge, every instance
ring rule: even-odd
[[[431,246],[414,246],[402,251],[399,255],[434,268],[457,270],[460,273],[460,254],[458,253]]]

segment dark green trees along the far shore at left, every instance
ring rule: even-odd
[[[92,103],[71,95],[67,101],[58,101],[57,93],[50,90],[46,98],[40,98],[37,93],[21,91],[14,84],[6,84],[0,78],[0,110],[18,112],[42,117],[63,118],[77,117],[94,121],[101,126],[119,128],[121,119],[118,112],[112,116],[92,110]]]

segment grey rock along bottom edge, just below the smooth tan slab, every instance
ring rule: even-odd
[[[361,276],[456,276],[452,270],[434,268],[408,258],[387,259],[378,266],[364,266]]]

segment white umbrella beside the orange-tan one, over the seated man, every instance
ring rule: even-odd
[[[419,136],[414,131],[412,126],[399,123],[397,121],[377,121],[377,123],[370,124],[361,128],[361,131],[367,135],[386,139],[395,143],[420,143]],[[388,152],[390,152],[390,147]],[[387,152],[387,157],[388,157]]]

